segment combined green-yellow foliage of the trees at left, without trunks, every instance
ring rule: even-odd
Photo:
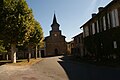
[[[0,1],[0,40],[7,50],[10,44],[38,45],[43,40],[42,28],[25,0]]]

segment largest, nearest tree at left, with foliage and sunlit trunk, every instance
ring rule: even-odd
[[[2,0],[0,3],[0,37],[11,45],[11,61],[16,63],[16,45],[24,43],[34,30],[32,10],[25,0]]]

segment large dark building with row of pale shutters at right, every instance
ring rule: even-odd
[[[120,57],[120,0],[100,7],[81,28],[86,55],[100,59]]]

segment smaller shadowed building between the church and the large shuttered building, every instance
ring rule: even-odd
[[[73,37],[74,48],[72,49],[73,55],[83,57],[84,56],[84,43],[83,33],[80,33]]]

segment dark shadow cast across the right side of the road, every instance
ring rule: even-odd
[[[99,67],[70,60],[70,56],[60,58],[69,80],[120,80],[120,69]]]

